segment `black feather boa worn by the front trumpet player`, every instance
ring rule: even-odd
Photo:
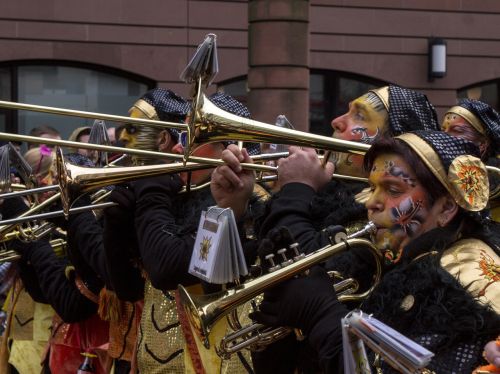
[[[411,247],[405,248],[401,263],[386,269],[382,282],[361,309],[409,337],[429,333],[444,336],[439,349],[495,338],[500,331],[500,316],[478,303],[440,266],[441,254],[455,236],[453,228],[436,229],[413,240]],[[438,253],[412,260],[430,250]],[[407,295],[415,302],[404,311],[401,302]]]

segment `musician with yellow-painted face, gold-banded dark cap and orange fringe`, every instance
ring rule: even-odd
[[[187,109],[187,102],[174,92],[154,89],[134,103],[130,114],[135,118],[178,122],[185,116]],[[127,126],[126,140],[129,147],[134,145],[142,146],[144,150],[170,151],[176,143],[176,140],[172,140],[171,130],[144,127]],[[148,137],[153,135],[156,137]],[[140,158],[134,159],[134,162],[137,165],[156,160]],[[104,287],[97,292],[99,315],[110,323],[108,353],[115,359],[115,373],[128,373],[134,366],[144,295],[144,279],[137,260],[139,254],[133,213],[135,200],[127,200],[131,193],[125,186],[115,187],[110,200],[132,205],[107,209],[104,222],[98,221],[90,211],[70,216],[68,222],[68,237],[74,243],[80,262],[88,264],[104,283]],[[84,202],[78,203],[90,204],[90,200],[84,199]]]

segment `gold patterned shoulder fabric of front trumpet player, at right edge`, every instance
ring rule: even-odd
[[[500,258],[486,243],[478,239],[457,241],[444,252],[441,266],[473,297],[500,313]]]

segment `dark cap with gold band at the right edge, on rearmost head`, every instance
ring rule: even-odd
[[[448,113],[455,113],[464,118],[479,133],[488,137],[494,153],[499,152],[500,114],[495,109],[482,101],[461,99],[458,106],[451,107]]]

